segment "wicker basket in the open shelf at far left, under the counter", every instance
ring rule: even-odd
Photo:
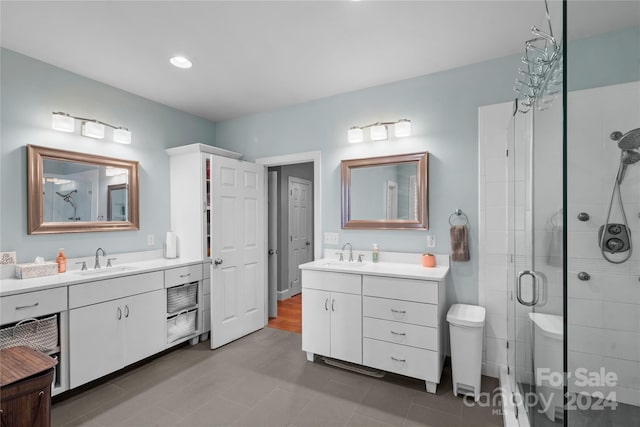
[[[58,315],[44,319],[24,319],[0,329],[0,349],[24,345],[43,353],[58,347]]]

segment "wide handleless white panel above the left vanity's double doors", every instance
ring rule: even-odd
[[[163,288],[162,271],[69,286],[69,308],[83,307]]]

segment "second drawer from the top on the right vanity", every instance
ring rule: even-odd
[[[433,304],[362,297],[362,315],[414,325],[438,326],[438,306]]]

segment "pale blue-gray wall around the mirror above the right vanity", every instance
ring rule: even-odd
[[[571,90],[637,80],[640,33],[631,28],[571,43],[567,66],[581,70]],[[606,62],[590,54],[593,43]],[[513,81],[522,54],[404,80],[315,102],[219,122],[217,145],[255,159],[320,150],[322,155],[322,231],[338,232],[340,244],[381,251],[426,251],[420,231],[342,230],[340,161],[376,155],[429,151],[429,231],[449,253],[449,215],[462,209],[469,218],[471,261],[453,263],[448,301],[478,302],[478,107],[515,98]],[[608,69],[592,77],[592,69]],[[571,74],[573,76],[573,74]],[[412,136],[388,141],[347,143],[356,125],[400,118],[412,120]],[[321,237],[321,236],[320,236]]]

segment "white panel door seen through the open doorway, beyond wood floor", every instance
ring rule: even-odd
[[[298,266],[311,261],[312,253],[311,182],[289,177],[289,293],[302,291]]]

